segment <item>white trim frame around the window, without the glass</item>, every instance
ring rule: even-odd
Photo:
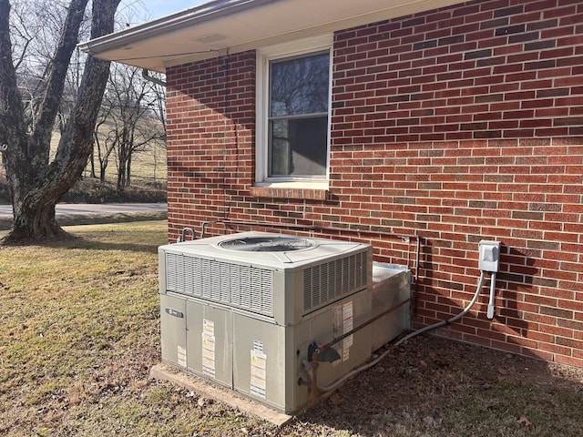
[[[272,188],[327,189],[330,175],[330,131],[332,119],[332,43],[333,35],[326,34],[289,41],[275,46],[262,47],[257,51],[256,68],[256,119],[255,119],[255,186]],[[308,55],[319,50],[330,50],[330,84],[328,86],[328,145],[326,175],[324,178],[268,178],[268,107],[269,63],[272,59]]]

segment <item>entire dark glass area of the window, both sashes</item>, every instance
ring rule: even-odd
[[[328,52],[271,61],[270,177],[325,176],[329,76]]]

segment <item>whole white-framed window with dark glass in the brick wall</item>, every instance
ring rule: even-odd
[[[326,36],[259,53],[258,183],[327,180],[331,45]]]

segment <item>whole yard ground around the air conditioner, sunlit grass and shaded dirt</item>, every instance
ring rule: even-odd
[[[66,230],[0,247],[0,435],[583,435],[583,371],[432,336],[279,430],[151,380],[166,222]]]

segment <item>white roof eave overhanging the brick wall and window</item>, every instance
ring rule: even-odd
[[[459,3],[459,0],[217,0],[79,46],[93,56],[164,73],[167,66]]]

